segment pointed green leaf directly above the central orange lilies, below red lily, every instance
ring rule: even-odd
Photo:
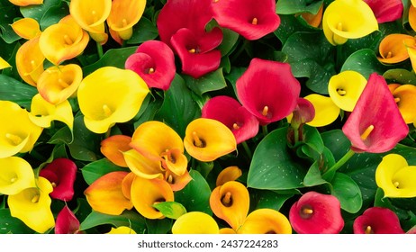
[[[200,116],[201,110],[192,99],[192,92],[186,87],[182,77],[176,74],[155,119],[165,121],[184,138],[186,126]]]

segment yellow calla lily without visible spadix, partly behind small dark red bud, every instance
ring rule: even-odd
[[[322,127],[337,120],[340,109],[330,97],[321,94],[309,94],[304,98],[310,101],[315,108],[315,117],[306,124],[312,127]]]

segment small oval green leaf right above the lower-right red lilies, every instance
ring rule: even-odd
[[[348,175],[336,173],[332,180],[332,192],[339,199],[341,209],[356,213],[363,205],[363,198],[357,183]]]

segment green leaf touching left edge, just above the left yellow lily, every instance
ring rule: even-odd
[[[30,110],[32,97],[38,94],[36,87],[23,84],[12,77],[0,75],[0,100],[18,103]]]

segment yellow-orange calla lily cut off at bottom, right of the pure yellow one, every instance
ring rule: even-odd
[[[292,234],[289,220],[279,211],[258,209],[249,213],[239,234]]]

